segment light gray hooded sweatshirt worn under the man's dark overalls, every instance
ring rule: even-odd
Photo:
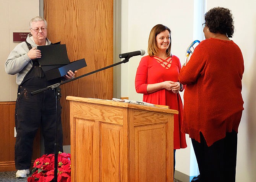
[[[31,44],[32,47],[36,47],[36,43],[31,40],[31,34],[28,34],[27,42]],[[50,45],[50,40],[46,38],[46,45]],[[11,51],[7,60],[5,61],[5,71],[7,74],[17,74],[16,83],[21,84],[24,77],[28,71],[32,68],[32,60],[28,57],[28,45],[26,42],[21,42]]]

